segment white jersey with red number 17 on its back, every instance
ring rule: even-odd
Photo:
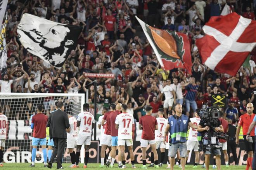
[[[119,124],[118,139],[132,139],[133,115],[129,113],[119,114],[116,116],[115,124]]]

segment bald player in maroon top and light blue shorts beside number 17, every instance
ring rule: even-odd
[[[110,129],[111,129],[111,151],[109,153],[109,157],[107,158],[106,166],[109,167],[109,163],[111,162],[110,167],[114,166],[115,158],[112,158],[116,153],[116,149],[118,148],[118,167],[122,167],[122,159],[120,148],[118,147],[118,129],[116,129],[116,116],[118,116],[121,112],[122,104],[118,103],[116,105],[116,110],[109,115],[110,120]]]

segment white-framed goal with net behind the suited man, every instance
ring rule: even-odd
[[[43,112],[48,116],[55,109],[56,101],[64,102],[64,111],[77,118],[83,110],[85,100],[85,94],[77,93],[0,93],[0,106],[8,118],[3,161],[31,162],[31,116],[36,114],[38,104],[44,106]],[[43,162],[42,149],[37,151],[35,162]],[[66,148],[63,162],[71,162]]]

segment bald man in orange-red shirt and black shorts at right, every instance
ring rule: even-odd
[[[251,125],[251,123],[253,122],[254,116],[255,114],[253,114],[253,104],[252,103],[248,103],[246,105],[246,114],[243,114],[242,116],[240,116],[239,118],[239,122],[238,122],[238,126],[237,126],[237,133],[236,133],[236,139],[235,139],[235,143],[237,143],[237,145],[239,144],[239,133],[240,133],[240,129],[241,126],[243,128],[243,136],[244,136],[244,145],[246,146],[246,152],[248,153],[248,158],[247,158],[247,166],[246,166],[246,170],[249,170],[249,167],[251,167],[251,169],[253,169],[253,151],[254,151],[254,129],[252,131],[250,131],[249,133],[249,127]],[[246,135],[250,135],[252,137],[252,141],[249,142],[246,140]]]

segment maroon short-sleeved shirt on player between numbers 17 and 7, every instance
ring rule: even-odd
[[[142,116],[140,117],[139,124],[143,127],[141,138],[145,140],[154,140],[157,125],[156,117],[151,115]]]

